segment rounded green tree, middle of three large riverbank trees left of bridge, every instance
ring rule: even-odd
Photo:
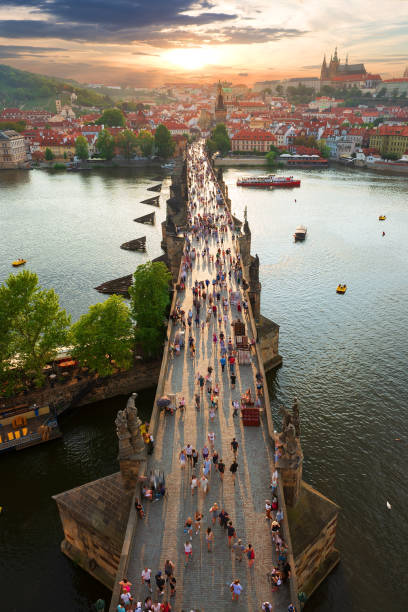
[[[132,365],[132,320],[124,299],[118,295],[91,306],[74,323],[71,336],[73,356],[100,376],[111,375],[116,367],[129,369]]]

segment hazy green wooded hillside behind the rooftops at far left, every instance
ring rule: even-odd
[[[112,100],[92,89],[54,77],[25,72],[0,64],[0,106],[55,111],[55,99],[69,103],[72,93],[79,106],[106,108]]]

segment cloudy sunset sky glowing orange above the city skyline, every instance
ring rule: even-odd
[[[324,53],[408,66],[408,0],[0,0],[0,63],[82,83],[318,76]]]

